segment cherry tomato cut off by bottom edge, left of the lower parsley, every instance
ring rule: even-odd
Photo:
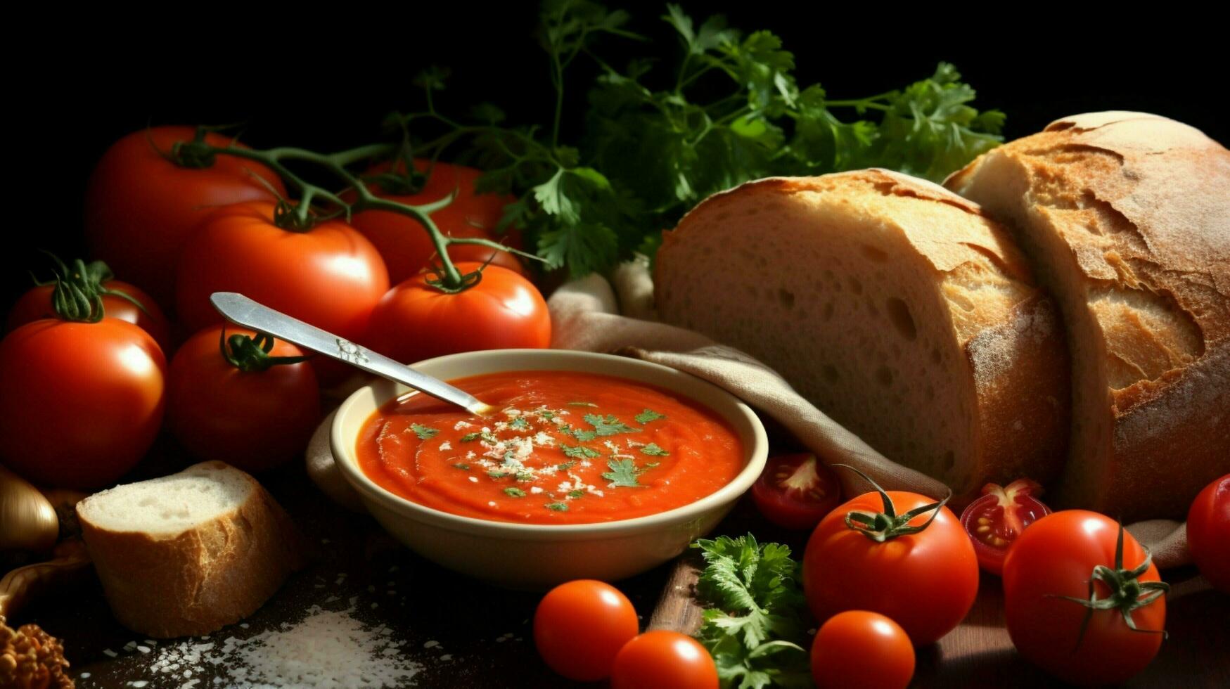
[[[717,666],[691,636],[647,631],[615,656],[611,689],[717,689]]]

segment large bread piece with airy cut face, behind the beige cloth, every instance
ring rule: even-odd
[[[665,234],[654,284],[663,320],[771,365],[958,504],[1061,469],[1058,314],[1004,230],[936,185],[884,170],[749,182]]]

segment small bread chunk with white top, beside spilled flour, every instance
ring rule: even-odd
[[[116,619],[155,639],[251,615],[304,564],[282,507],[221,461],[95,493],[76,511]]]

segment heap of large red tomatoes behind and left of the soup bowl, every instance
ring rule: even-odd
[[[260,471],[301,453],[320,421],[320,383],[351,370],[303,363],[304,352],[258,333],[224,336],[213,292],[244,293],[407,362],[550,343],[546,304],[512,255],[455,247],[454,258],[492,265],[462,263],[481,272],[469,289],[446,294],[421,274],[433,249],[411,218],[358,213],[353,225],[292,226],[279,221],[293,205],[273,170],[226,154],[200,166],[175,162],[172,148],[194,134],[155,127],[108,149],[85,214],[87,244],[106,265],[57,262],[65,284],[32,289],[10,313],[0,342],[0,461],[17,472],[52,486],[112,485],[146,454],[164,412],[180,444],[203,458]],[[204,141],[242,148],[216,133]],[[508,199],[476,193],[477,170],[418,167],[428,175],[417,193],[380,196],[422,204],[455,193],[433,213],[435,224],[493,239]],[[392,290],[386,265],[401,283]],[[112,279],[107,266],[130,282]]]

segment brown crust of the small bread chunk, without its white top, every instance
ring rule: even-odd
[[[197,466],[240,472],[221,461]],[[77,506],[86,548],[121,624],[154,639],[210,634],[255,613],[303,567],[303,536],[256,479],[244,476],[252,484],[244,504],[170,538],[100,528],[87,517],[91,498]]]

